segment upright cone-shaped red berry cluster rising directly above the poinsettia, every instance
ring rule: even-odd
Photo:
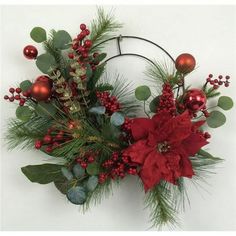
[[[159,98],[157,113],[159,111],[166,111],[169,112],[171,115],[176,114],[174,94],[169,83],[164,83],[162,86],[162,94]]]

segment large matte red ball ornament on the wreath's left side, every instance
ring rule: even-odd
[[[46,101],[52,95],[52,88],[49,83],[38,81],[32,85],[30,92],[37,101]]]

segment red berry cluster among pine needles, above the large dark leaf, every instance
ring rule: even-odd
[[[57,130],[50,128],[47,130],[46,135],[42,140],[36,140],[34,146],[36,149],[40,149],[42,146],[45,147],[45,151],[50,153],[54,148],[59,147],[62,143],[71,140],[72,137],[68,136],[63,130]]]

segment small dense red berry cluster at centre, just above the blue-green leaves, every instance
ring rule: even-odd
[[[106,108],[106,112],[112,115],[114,112],[119,111],[121,108],[117,97],[111,96],[109,92],[97,92],[97,98],[99,99],[102,106]]]

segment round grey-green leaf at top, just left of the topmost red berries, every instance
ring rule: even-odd
[[[53,39],[55,48],[62,50],[69,48],[71,42],[72,38],[65,30],[57,31]]]

